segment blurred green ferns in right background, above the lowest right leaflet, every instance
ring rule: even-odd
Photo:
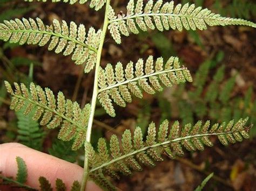
[[[250,123],[255,123],[252,87],[248,88],[244,97],[232,96],[237,75],[224,79],[224,65],[217,68],[210,83],[207,83],[208,73],[221,61],[221,58],[223,55],[219,52],[215,60],[207,60],[199,67],[191,90],[185,91],[185,86],[181,85],[174,93],[179,102],[179,115],[183,124],[193,123],[194,116],[199,119],[210,118],[214,122],[227,122],[231,119],[237,122],[241,117],[250,116]],[[255,135],[253,130],[251,135]]]

